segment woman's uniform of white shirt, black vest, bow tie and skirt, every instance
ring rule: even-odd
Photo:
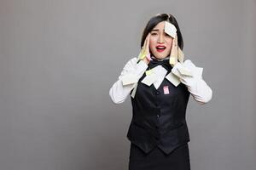
[[[172,71],[169,59],[152,59],[148,65],[131,59],[109,91],[113,102],[121,103],[136,90],[131,97],[132,119],[126,135],[131,141],[129,170],[189,170],[189,130],[185,119],[189,94],[198,102],[207,103],[212,89],[201,75],[187,78],[176,87],[165,78]],[[144,84],[145,71],[156,67],[160,68],[156,71],[159,81],[150,86]],[[137,83],[122,86],[122,77],[128,73],[137,77]]]

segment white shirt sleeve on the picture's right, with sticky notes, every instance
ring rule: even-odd
[[[181,74],[183,69],[189,71],[192,75]],[[172,68],[172,72],[187,86],[193,98],[200,104],[206,104],[212,99],[212,89],[203,80],[202,71],[203,68],[196,67],[189,59],[185,60],[183,64],[177,63]]]

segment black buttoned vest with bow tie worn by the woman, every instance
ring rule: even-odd
[[[166,75],[172,70],[168,59],[153,61],[148,64],[148,69],[162,65],[167,70]],[[145,76],[144,73],[138,82],[135,97],[131,98],[132,119],[126,136],[145,153],[158,146],[169,154],[189,142],[185,120],[189,91],[183,83],[175,87],[166,78],[158,89],[154,88],[154,84],[148,87],[141,82]],[[166,94],[164,87],[168,88]]]

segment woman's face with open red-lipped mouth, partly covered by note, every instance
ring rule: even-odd
[[[173,38],[165,32],[165,21],[158,23],[149,33],[149,49],[154,57],[164,59],[170,55]]]

